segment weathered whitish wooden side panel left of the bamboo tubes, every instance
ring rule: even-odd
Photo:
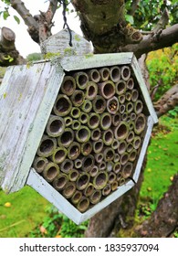
[[[50,62],[16,66],[0,88],[0,184],[23,187],[64,73]]]

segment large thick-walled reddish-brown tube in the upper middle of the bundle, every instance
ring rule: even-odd
[[[113,97],[115,92],[116,90],[113,81],[107,80],[99,83],[99,94],[106,100]]]

